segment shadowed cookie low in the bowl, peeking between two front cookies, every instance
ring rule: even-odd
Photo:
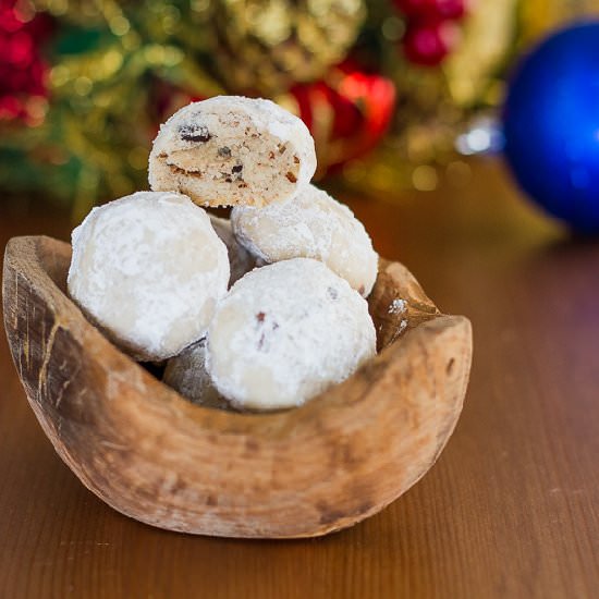
[[[221,409],[230,407],[206,371],[206,339],[200,339],[169,359],[162,382],[192,403]]]

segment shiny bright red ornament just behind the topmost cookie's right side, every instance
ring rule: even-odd
[[[316,142],[319,166],[334,170],[371,150],[387,132],[395,103],[393,83],[346,62],[325,81],[294,86],[290,95]]]

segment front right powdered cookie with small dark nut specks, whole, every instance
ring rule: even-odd
[[[375,355],[364,297],[322,262],[294,258],[258,268],[219,302],[206,367],[233,405],[303,404]]]

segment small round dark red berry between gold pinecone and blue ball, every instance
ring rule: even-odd
[[[455,48],[459,27],[451,21],[408,22],[404,53],[415,64],[437,66]]]

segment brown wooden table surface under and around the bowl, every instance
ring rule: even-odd
[[[454,436],[382,513],[317,540],[192,537],[129,519],[54,454],[0,341],[0,598],[585,598],[599,595],[599,243],[570,240],[500,164],[461,188],[346,198],[475,355]],[[0,242],[66,239],[0,208]]]

